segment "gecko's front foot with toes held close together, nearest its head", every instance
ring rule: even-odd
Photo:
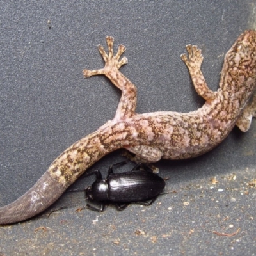
[[[198,49],[196,45],[186,45],[188,51],[188,57],[186,54],[181,54],[180,58],[184,61],[188,68],[199,68],[204,60],[204,57],[201,54],[201,50]]]

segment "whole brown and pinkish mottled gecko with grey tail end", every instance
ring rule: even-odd
[[[136,87],[118,69],[127,63],[120,45],[113,56],[113,38],[106,38],[109,54],[99,45],[106,65],[83,70],[84,77],[104,74],[122,91],[113,120],[65,150],[27,193],[0,208],[0,224],[26,220],[44,211],[88,167],[118,148],[136,154],[134,161],[154,163],[159,159],[184,159],[211,150],[224,140],[234,125],[247,131],[256,116],[256,32],[245,31],[227,52],[220,88],[212,92],[200,71],[200,49],[187,45],[181,58],[189,69],[196,92],[205,99],[202,108],[190,113],[137,114]],[[252,99],[250,102],[250,98]]]

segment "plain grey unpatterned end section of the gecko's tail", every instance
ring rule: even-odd
[[[35,216],[53,204],[65,189],[48,171],[45,172],[28,192],[11,204],[0,207],[0,225],[17,223]]]

